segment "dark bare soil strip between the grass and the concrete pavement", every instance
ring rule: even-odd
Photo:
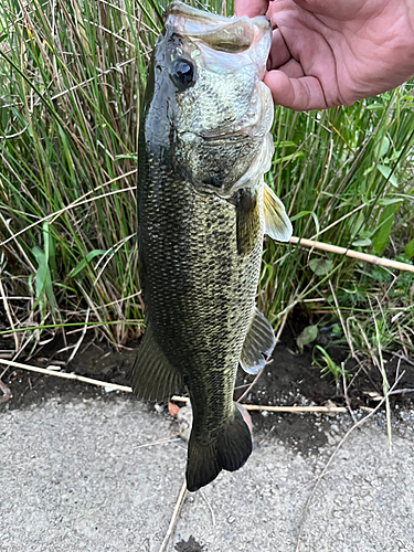
[[[329,341],[328,337],[320,332],[317,342],[323,346],[338,365],[343,363],[348,374],[346,379],[339,378],[338,382],[331,373],[321,376],[320,370],[312,362],[311,347],[306,346],[302,352],[298,351],[295,338],[301,331],[302,326],[299,321],[296,327],[293,325],[286,327],[273,353],[272,362],[252,389],[248,388],[255,376],[240,369],[235,400],[244,395],[242,402],[259,405],[325,405],[330,401],[337,406],[349,405],[354,410],[361,406],[376,406],[379,399],[383,395],[383,378],[380,370],[367,360],[357,364],[350,358],[346,347]],[[12,346],[10,339],[3,343],[0,340],[0,350],[10,346]],[[78,354],[68,365],[66,365],[68,352],[59,352],[63,346],[64,343],[55,340],[31,358],[29,363],[41,368],[57,365],[64,371],[76,372],[79,375],[130,385],[137,343],[129,343],[129,347],[117,352],[104,341],[85,340]],[[412,393],[414,391],[414,363],[401,361],[396,351],[384,353],[384,368],[389,385],[392,386],[399,379],[397,388],[406,390],[404,393],[396,393],[390,397],[392,408],[396,404],[399,407],[410,408],[414,396]],[[23,370],[9,370],[2,381],[13,394],[13,397],[8,401],[9,408],[36,404],[39,401],[59,396],[61,393],[73,396],[78,396],[81,393],[85,397],[102,396],[104,400],[106,396],[102,389]],[[272,421],[263,416],[256,420],[257,428],[270,428],[270,423]]]

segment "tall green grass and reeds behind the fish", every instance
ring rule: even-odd
[[[140,335],[137,130],[164,4],[0,7],[0,277],[17,353],[89,326],[116,346]],[[413,261],[413,96],[406,84],[327,112],[276,107],[266,180],[295,235]],[[299,306],[319,326],[342,317],[352,351],[413,351],[408,273],[267,238],[263,261],[258,302],[275,329]]]

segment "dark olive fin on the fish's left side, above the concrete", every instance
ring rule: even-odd
[[[149,325],[132,369],[134,393],[146,401],[163,401],[184,388],[180,373],[170,364],[153,339]]]

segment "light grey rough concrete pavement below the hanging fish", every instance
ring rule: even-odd
[[[278,420],[240,471],[190,493],[171,551],[296,550],[305,501],[350,422],[330,418],[327,432],[312,417],[328,444],[304,455],[280,442]],[[395,414],[392,454],[382,414],[350,435],[307,512],[300,552],[414,551],[413,422]],[[185,469],[174,432],[166,414],[115,393],[0,412],[0,550],[158,552]],[[150,445],[158,439],[169,442]]]

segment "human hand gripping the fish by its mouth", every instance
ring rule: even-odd
[[[413,0],[235,0],[234,9],[272,21],[264,82],[275,104],[351,105],[414,76]]]

